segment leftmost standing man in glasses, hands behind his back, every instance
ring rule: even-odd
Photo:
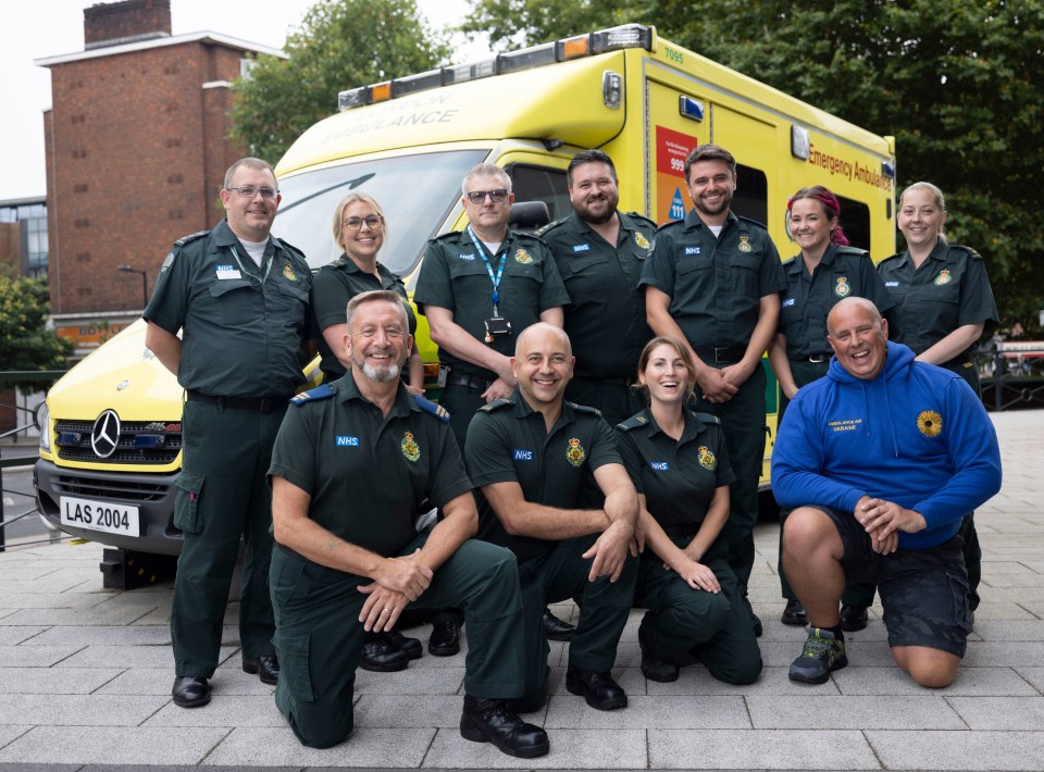
[[[302,345],[313,337],[308,263],[271,236],[279,206],[272,167],[236,161],[221,202],[226,219],[217,227],[181,239],[166,256],[142,314],[146,346],[186,393],[174,493],[184,544],[171,603],[172,696],[183,708],[210,701],[240,537],[243,669],[266,684],[278,680],[264,475],[288,400],[304,382]]]

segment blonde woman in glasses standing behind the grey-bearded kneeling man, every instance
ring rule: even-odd
[[[410,306],[402,281],[377,262],[377,252],[384,246],[387,225],[384,210],[372,196],[350,192],[334,210],[334,241],[344,252],[337,260],[323,265],[312,278],[312,312],[323,335],[319,339],[322,357],[320,368],[326,383],[341,377],[350,366],[345,353],[348,333],[348,301],[360,292],[390,289],[397,292],[406,307],[410,335],[417,332],[417,316]],[[424,370],[417,343],[407,359],[409,381],[407,388],[414,395],[424,394]],[[398,631],[366,633],[363,638],[359,667],[374,672],[405,670],[411,659],[422,653],[421,642]]]

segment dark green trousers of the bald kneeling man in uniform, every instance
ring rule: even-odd
[[[569,663],[583,670],[607,672],[617,659],[617,644],[627,623],[634,602],[634,583],[638,576],[638,559],[627,556],[620,578],[607,576],[587,580],[591,560],[581,556],[598,535],[564,539],[550,552],[519,563],[522,606],[525,621],[525,697],[526,702],[543,699],[547,694],[547,655],[550,647],[544,633],[543,615],[547,603],[576,598],[580,624],[569,645]]]

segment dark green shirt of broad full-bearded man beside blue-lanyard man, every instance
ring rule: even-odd
[[[569,292],[566,333],[577,353],[576,377],[591,381],[634,377],[642,349],[652,337],[645,292],[637,285],[656,223],[641,214],[617,216],[616,247],[575,213],[537,234],[555,256]]]

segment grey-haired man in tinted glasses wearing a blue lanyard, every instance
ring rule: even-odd
[[[507,172],[480,163],[460,189],[468,227],[428,244],[413,300],[438,345],[438,401],[463,452],[475,411],[517,386],[515,337],[536,322],[561,327],[569,296],[544,241],[508,231],[514,194]],[[428,651],[456,653],[459,635],[456,622],[436,614]]]

